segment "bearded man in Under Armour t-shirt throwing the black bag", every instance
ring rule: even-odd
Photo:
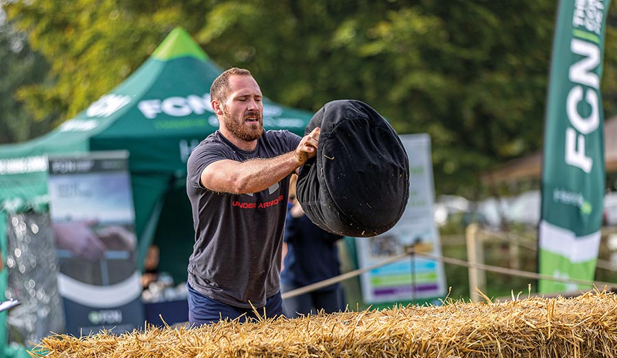
[[[210,88],[219,130],[193,150],[186,192],[195,245],[189,259],[189,322],[282,314],[280,261],[289,177],[314,157],[319,128],[300,138],[263,130],[261,90],[230,68]]]

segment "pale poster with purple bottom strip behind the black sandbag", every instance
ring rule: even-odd
[[[441,256],[439,231],[433,219],[431,138],[409,134],[400,139],[409,157],[409,201],[392,229],[373,238],[356,238],[361,268],[400,255],[409,246],[416,252]],[[366,303],[431,301],[446,294],[443,264],[418,255],[362,274],[361,286]]]

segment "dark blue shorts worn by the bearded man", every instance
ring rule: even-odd
[[[186,283],[189,289],[189,323],[199,326],[201,324],[212,324],[229,318],[234,320],[239,318],[240,322],[246,322],[247,319],[257,320],[258,316],[252,308],[235,307],[213,300],[203,294],[197,292],[189,283]],[[260,316],[264,315],[264,307],[257,308]],[[265,305],[266,318],[282,316],[282,299],[280,291],[274,296],[270,296],[266,300]]]

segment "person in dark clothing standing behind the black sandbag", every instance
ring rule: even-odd
[[[311,222],[295,198],[294,182],[291,183],[290,193],[291,205],[285,221],[287,253],[280,276],[282,292],[330,279],[341,273],[337,241],[343,237],[329,233]],[[315,314],[322,309],[329,314],[340,311],[342,306],[339,283],[283,301],[283,311],[287,318]]]

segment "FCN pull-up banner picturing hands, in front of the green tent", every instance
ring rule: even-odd
[[[143,324],[127,152],[49,158],[49,212],[66,331],[132,331]]]

